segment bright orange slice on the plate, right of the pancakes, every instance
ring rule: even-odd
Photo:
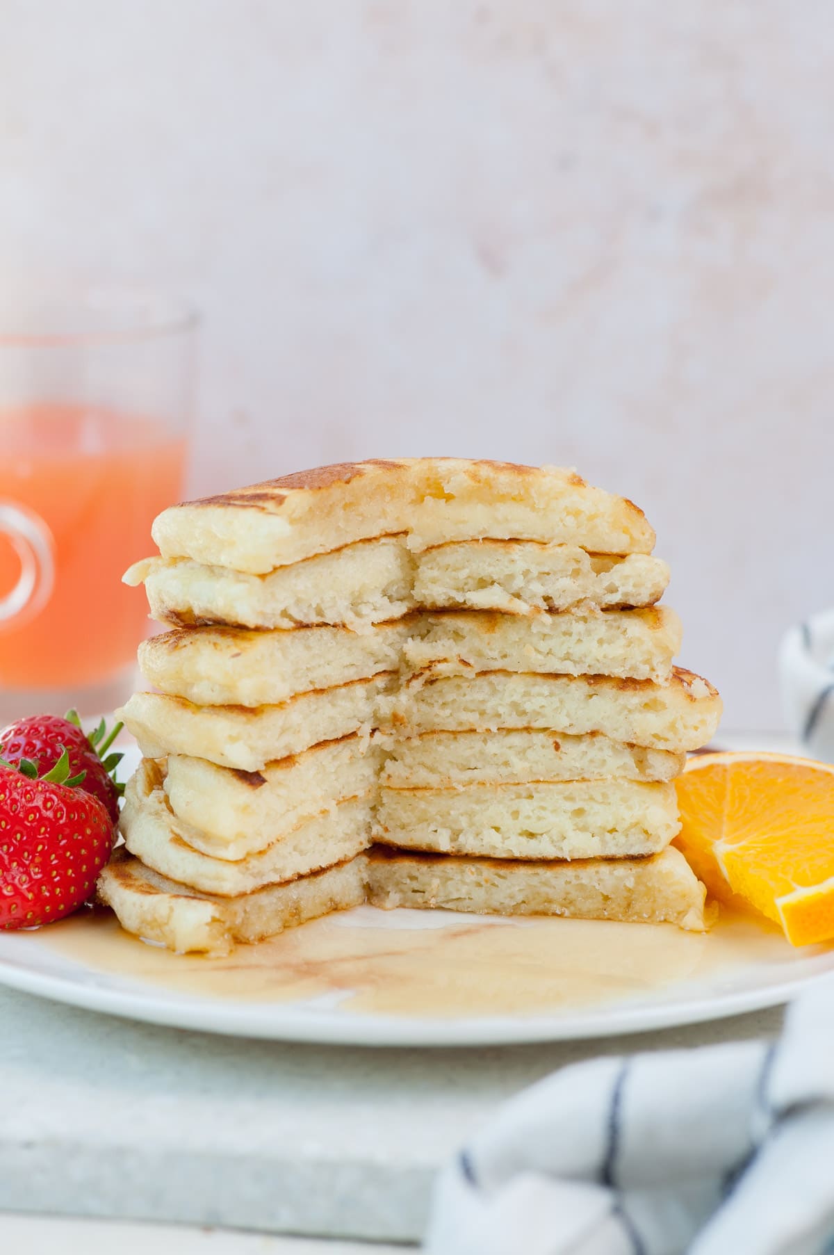
[[[834,937],[834,766],[790,754],[700,754],[675,782],[675,845],[721,902]]]

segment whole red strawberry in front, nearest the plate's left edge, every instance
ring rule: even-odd
[[[31,759],[0,761],[0,930],[51,924],[93,892],[114,828],[80,783],[66,750],[40,778]]]

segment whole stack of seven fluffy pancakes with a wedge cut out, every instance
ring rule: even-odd
[[[223,951],[370,901],[704,926],[670,842],[720,699],[630,501],[553,467],[325,467],[164,511],[167,633],[99,895]]]

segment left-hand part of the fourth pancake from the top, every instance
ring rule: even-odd
[[[187,754],[245,772],[301,754],[325,740],[370,735],[380,698],[396,683],[383,671],[331,689],[301,693],[281,705],[198,707],[161,693],[134,693],[117,712],[145,758]]]

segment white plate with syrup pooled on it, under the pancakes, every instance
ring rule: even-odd
[[[228,959],[178,956],[87,912],[0,934],[0,984],[176,1028],[360,1045],[607,1037],[788,1001],[834,973],[766,924],[504,920],[359,907]]]

